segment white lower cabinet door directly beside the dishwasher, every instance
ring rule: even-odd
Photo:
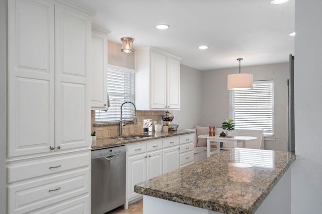
[[[139,195],[134,192],[134,185],[146,180],[146,154],[128,157],[128,199]]]

